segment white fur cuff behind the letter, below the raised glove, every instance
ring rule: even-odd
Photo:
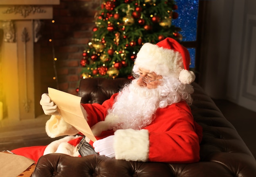
[[[47,135],[51,138],[63,136],[63,135],[75,135],[79,133],[76,128],[74,128],[69,123],[65,122],[64,119],[59,115],[53,115],[46,122],[45,131]]]

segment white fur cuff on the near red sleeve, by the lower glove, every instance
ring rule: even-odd
[[[116,159],[123,159],[127,161],[148,160],[148,130],[117,130],[114,137]]]

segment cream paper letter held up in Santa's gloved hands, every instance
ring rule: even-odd
[[[97,140],[84,118],[85,110],[81,105],[81,97],[49,87],[48,94],[51,100],[57,105],[61,117],[63,117],[67,123],[73,125],[74,128],[79,130],[90,140]]]

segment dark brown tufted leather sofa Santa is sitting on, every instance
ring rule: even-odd
[[[127,81],[124,78],[83,79],[79,96],[83,103],[102,103]],[[256,177],[256,160],[234,126],[198,84],[193,83],[193,86],[191,110],[195,121],[203,128],[200,162],[166,164],[116,160],[99,155],[49,154],[39,159],[32,177]]]

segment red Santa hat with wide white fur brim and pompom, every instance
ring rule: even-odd
[[[165,38],[156,45],[145,43],[135,60],[133,71],[138,68],[148,69],[161,76],[173,76],[181,83],[190,84],[195,80],[195,74],[189,71],[190,56],[173,38]]]

